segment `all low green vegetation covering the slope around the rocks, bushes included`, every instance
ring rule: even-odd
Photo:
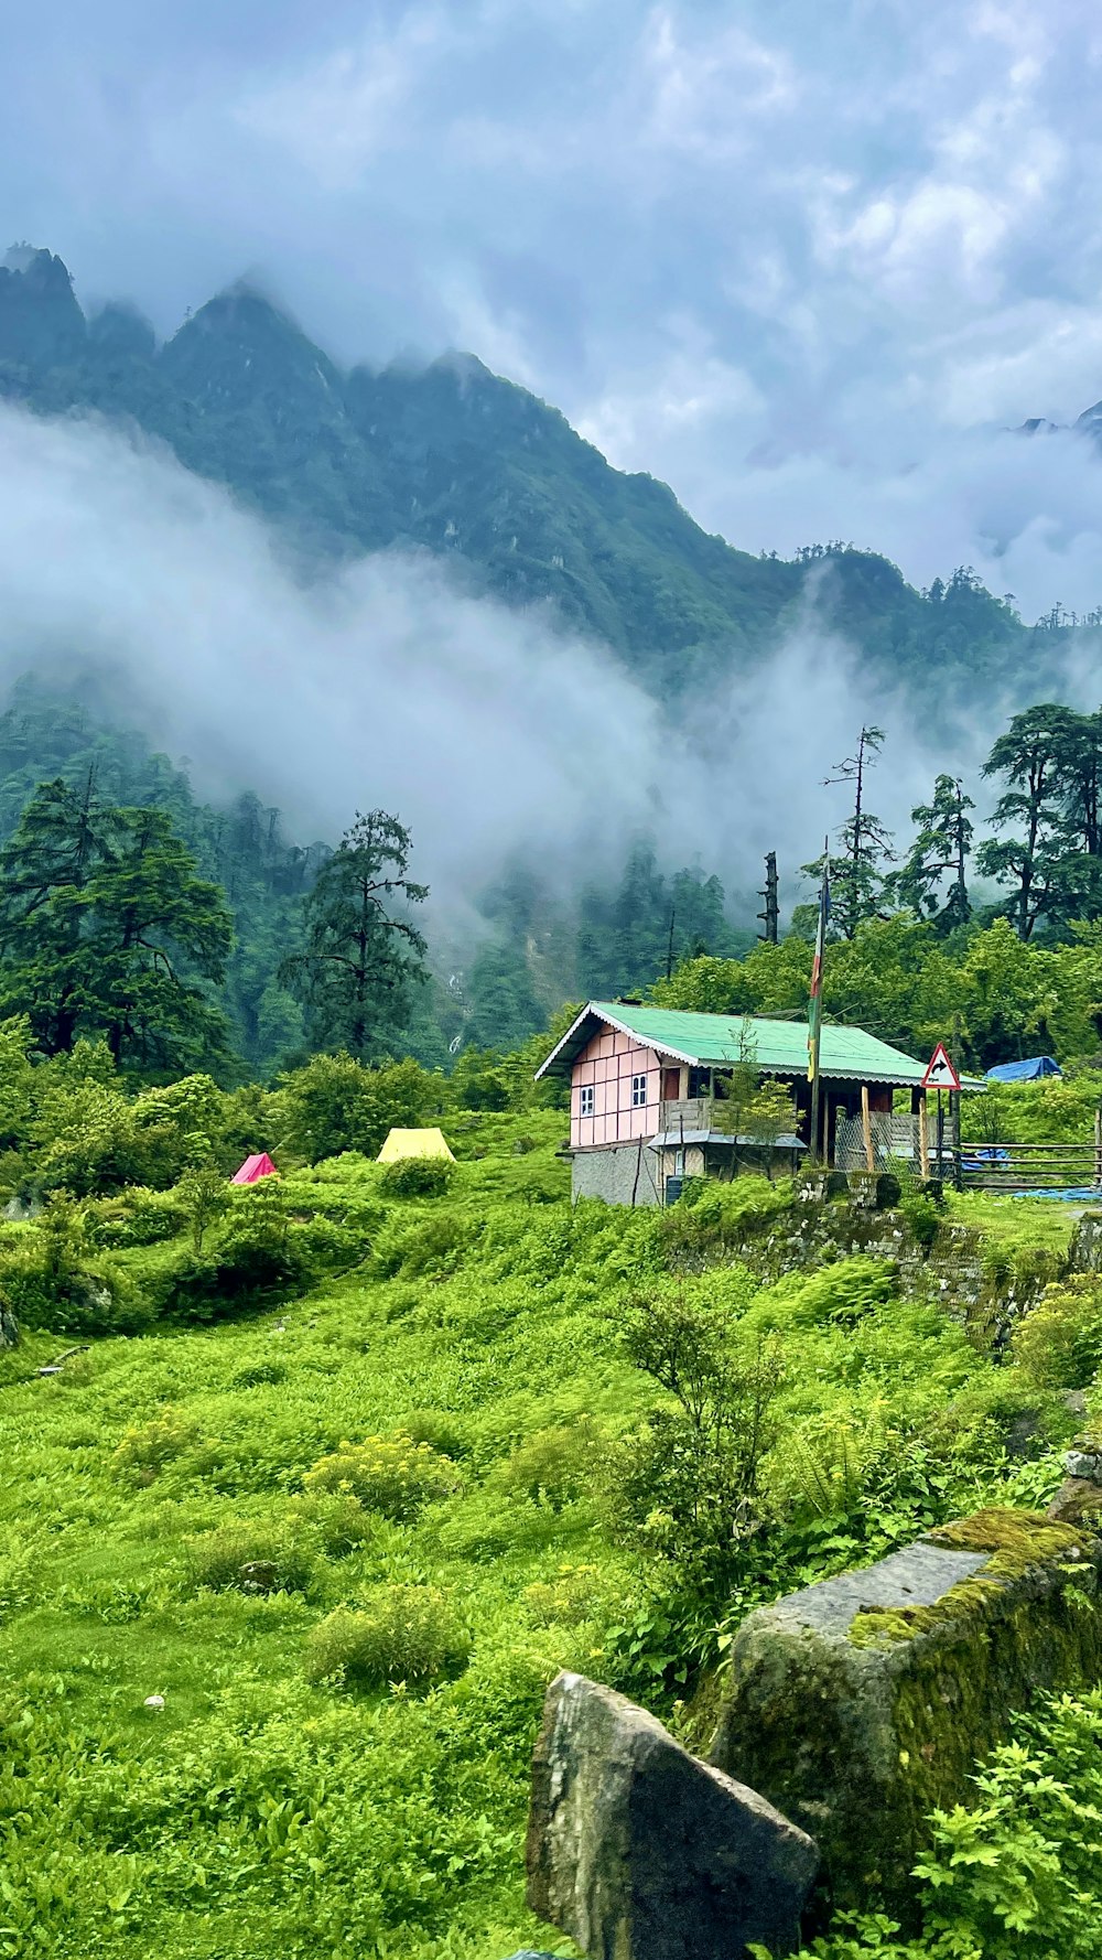
[[[39,1119],[61,1196],[0,1229],[25,1329],[0,1356],[0,1952],[539,1944],[520,1846],[557,1668],[694,1731],[751,1605],[1059,1482],[1098,1288],[1049,1290],[1075,1323],[1053,1382],[1037,1345],[996,1364],[890,1262],[763,1284],[739,1254],[784,1219],[786,1184],[571,1207],[557,1109],[453,1102],[453,1168],[380,1168],[412,1066],[359,1070],[359,1102],[326,1060],[267,1098],[141,1092],[145,1156],[127,1170],[116,1145],[78,1196],[59,1088],[55,1145]],[[220,1158],[276,1117],[284,1176],[231,1192]],[[355,1125],[365,1149],[341,1151]],[[696,1409],[671,1352],[692,1356]],[[957,1944],[900,1952],[994,1960],[1008,1901],[1016,1952],[1051,1950],[1051,1803],[1027,1844],[1014,1829],[1053,1752],[1088,1801],[1096,1735],[1096,1705],[1069,1703],[992,1766],[994,1797],[933,1860],[929,1940],[945,1921]],[[1088,1815],[1059,1825],[1069,1870]],[[1102,1903],[1080,1886],[1061,1911],[1061,1950],[1084,1956]],[[886,1925],[829,1942],[873,1948],[896,1950]]]

